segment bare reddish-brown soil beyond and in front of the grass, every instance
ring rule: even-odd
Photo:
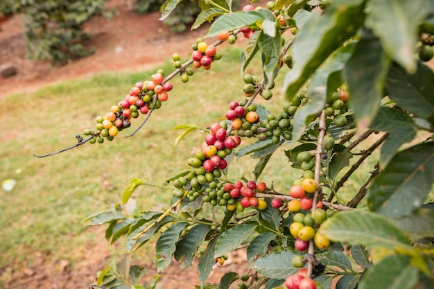
[[[109,8],[118,13],[108,20],[98,17],[89,21],[85,29],[92,34],[87,46],[96,53],[80,60],[74,60],[63,67],[53,67],[46,62],[35,62],[25,55],[24,24],[21,15],[0,19],[0,66],[12,64],[17,75],[0,78],[0,99],[10,94],[36,89],[69,79],[87,78],[93,73],[107,71],[143,71],[155,67],[170,58],[172,53],[187,53],[197,37],[205,35],[207,26],[186,33],[172,33],[170,28],[158,20],[159,12],[137,15],[125,7],[125,1],[107,1]],[[75,248],[74,256],[81,261],[71,263],[34,252],[31,263],[16,261],[0,271],[0,283],[6,289],[58,289],[88,288],[96,281],[96,272],[103,270],[112,259],[110,245],[105,240],[104,228],[93,229],[94,243]],[[73,236],[71,236],[73,238]],[[57,257],[58,258],[58,257]],[[77,259],[77,258],[76,258]],[[209,281],[218,282],[224,272],[230,270],[247,272],[245,256],[229,256],[225,265],[216,265]],[[146,279],[156,274],[153,264],[142,264],[148,268]],[[196,263],[197,265],[197,263]],[[188,270],[180,271],[178,264],[171,265],[162,273],[164,288],[193,288],[199,283],[195,264]]]

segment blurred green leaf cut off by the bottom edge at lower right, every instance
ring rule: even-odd
[[[407,256],[393,254],[367,268],[358,289],[413,289],[419,272]]]

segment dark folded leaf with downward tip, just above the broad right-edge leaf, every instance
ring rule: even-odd
[[[380,164],[383,168],[388,165],[403,143],[408,143],[416,137],[412,118],[405,112],[392,107],[380,107],[370,128],[389,132],[388,138],[381,146]]]

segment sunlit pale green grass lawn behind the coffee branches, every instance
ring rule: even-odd
[[[1,191],[0,268],[23,260],[31,262],[34,252],[76,261],[80,247],[98,241],[96,231],[83,231],[86,216],[118,203],[134,177],[163,186],[164,179],[184,168],[186,159],[193,148],[200,146],[205,134],[193,132],[175,146],[180,131],[171,129],[182,123],[196,123],[205,128],[224,116],[231,100],[243,99],[240,54],[238,49],[226,49],[223,60],[214,62],[210,71],[198,69],[186,84],[174,78],[169,100],[153,112],[135,137],[124,138],[141,123],[143,116],[133,120],[132,128],[120,132],[112,142],[87,143],[44,159],[33,154],[43,155],[76,143],[76,134],[93,128],[98,114],[105,114],[135,82],[150,79],[156,69],[99,74],[2,100],[0,181],[13,178],[17,186],[11,192]],[[172,70],[169,63],[164,69],[166,73]],[[249,68],[248,73],[260,77],[259,70]],[[281,71],[277,83],[281,83],[285,73]],[[279,113],[282,100],[277,87],[272,101],[267,103],[268,110]],[[259,99],[258,103],[265,101]],[[250,157],[233,161],[229,169],[231,180],[251,179],[255,163]],[[273,182],[275,189],[286,192],[301,175],[289,168],[288,159],[280,150],[273,155],[261,180]],[[363,184],[366,173],[361,175]],[[171,200],[171,193],[150,186],[139,187],[136,194],[141,210],[157,204],[167,207]]]

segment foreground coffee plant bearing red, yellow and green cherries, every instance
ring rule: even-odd
[[[177,3],[166,1],[163,19]],[[121,204],[89,216],[89,225],[107,225],[107,240],[125,238],[127,252],[155,238],[159,272],[173,260],[188,268],[199,259],[200,288],[432,288],[434,73],[426,62],[434,1],[277,0],[242,11],[230,0],[199,3],[193,28],[212,24],[192,44],[191,58],[174,53],[173,72],[139,80],[64,150],[112,141],[145,114],[139,130],[176,94],[172,78],[187,82],[212,69],[220,44],[245,37],[239,98],[221,108],[223,121],[175,127],[184,130],[176,141],[197,131],[203,142],[186,156],[187,168],[166,179],[173,186],[166,210],[131,212],[132,193],[148,185],[132,179]],[[255,55],[261,76],[245,73]],[[279,100],[273,89],[284,66]],[[279,102],[281,112],[257,98]],[[300,177],[277,188],[261,175],[283,144]],[[345,182],[377,150],[364,184],[344,202]],[[252,177],[232,179],[232,159],[246,155],[257,159]],[[249,273],[207,283],[213,266],[236,250],[245,250]],[[125,270],[125,263],[99,272],[95,287],[155,288],[158,274],[140,285],[140,267]]]

